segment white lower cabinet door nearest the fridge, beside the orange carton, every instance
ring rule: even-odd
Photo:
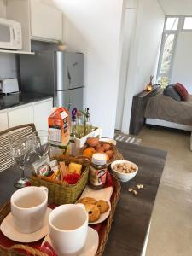
[[[34,124],[37,130],[48,131],[48,117],[53,108],[53,100],[34,103]]]

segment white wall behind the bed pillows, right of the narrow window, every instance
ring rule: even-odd
[[[180,32],[172,66],[171,83],[180,82],[192,94],[192,32]]]

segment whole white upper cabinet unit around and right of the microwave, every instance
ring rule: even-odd
[[[31,52],[31,40],[62,40],[62,12],[53,0],[7,0],[6,18],[20,22],[22,51]]]

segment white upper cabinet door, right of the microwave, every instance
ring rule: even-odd
[[[55,41],[62,39],[62,13],[42,0],[30,1],[32,39]]]

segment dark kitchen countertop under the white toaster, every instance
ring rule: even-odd
[[[42,93],[18,93],[18,94],[9,94],[9,95],[0,95],[0,110],[6,108],[13,108],[20,105],[38,102],[42,100],[49,99],[53,96],[42,94]]]

